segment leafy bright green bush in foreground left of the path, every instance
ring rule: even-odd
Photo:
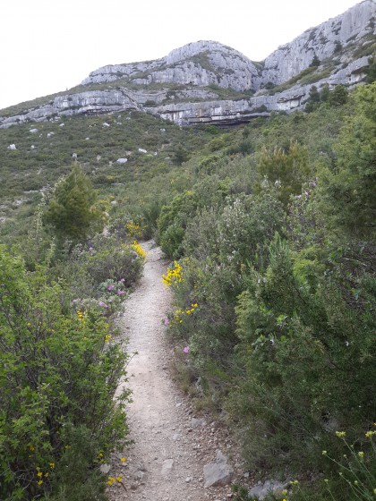
[[[98,307],[67,308],[68,289],[50,284],[44,267],[27,273],[4,248],[0,264],[1,498],[65,491],[73,455],[74,478],[103,493],[93,468],[127,435],[127,390],[114,400],[127,355]]]

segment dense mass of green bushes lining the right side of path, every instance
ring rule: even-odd
[[[250,469],[316,480],[292,499],[372,499],[376,470],[375,87],[346,106],[336,96],[274,117],[262,138],[250,124],[255,154],[233,159],[242,168],[227,183],[240,190],[202,204],[194,188],[195,210],[175,208],[169,332]],[[231,164],[216,157],[207,175],[223,183]]]

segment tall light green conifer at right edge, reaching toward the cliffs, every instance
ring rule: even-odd
[[[322,169],[323,206],[338,229],[372,235],[376,220],[376,85],[355,92],[355,113],[342,128],[338,163]]]

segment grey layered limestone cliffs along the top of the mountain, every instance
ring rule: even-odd
[[[278,47],[262,63],[218,42],[199,41],[150,62],[108,65],[67,92],[0,127],[55,115],[136,109],[176,123],[235,123],[304,106],[312,84],[352,87],[376,52],[376,2],[365,0]]]

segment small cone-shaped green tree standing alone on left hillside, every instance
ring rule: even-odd
[[[99,232],[105,224],[104,214],[96,207],[97,193],[81,166],[56,183],[44,221],[52,225],[60,242],[68,239],[82,242],[91,232]]]

